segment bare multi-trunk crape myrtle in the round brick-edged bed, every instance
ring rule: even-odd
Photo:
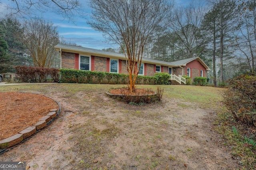
[[[168,0],[90,0],[95,30],[104,33],[106,39],[120,45],[126,57],[129,73],[129,89],[135,89],[144,46],[170,13]]]

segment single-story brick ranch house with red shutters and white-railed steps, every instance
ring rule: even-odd
[[[66,44],[54,47],[60,52],[60,68],[128,74],[124,54]],[[167,72],[171,75],[172,84],[181,84],[185,83],[183,75],[190,76],[193,81],[197,76],[207,77],[208,70],[210,68],[200,57],[174,62],[142,58],[138,75],[153,76],[156,72]]]

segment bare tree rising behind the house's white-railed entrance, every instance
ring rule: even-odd
[[[176,51],[182,56],[179,59],[187,59],[197,57],[200,47],[204,45],[204,41],[200,39],[199,26],[204,16],[204,8],[200,2],[192,1],[189,6],[176,7],[174,15],[169,22],[169,28],[176,37],[172,39]]]

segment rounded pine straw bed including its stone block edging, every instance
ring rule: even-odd
[[[40,94],[0,93],[0,149],[12,147],[52,121],[57,102]]]

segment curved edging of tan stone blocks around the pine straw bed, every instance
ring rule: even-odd
[[[37,93],[33,93],[33,94],[37,94]],[[40,94],[40,95],[42,95],[42,94]],[[46,97],[48,97],[48,96],[46,96]],[[48,98],[50,98],[50,97],[48,97]],[[52,98],[50,98],[50,99],[52,99]],[[24,139],[31,137],[32,135],[39,132],[40,129],[42,129],[42,128],[46,127],[47,125],[49,125],[50,123],[52,123],[52,121],[54,121],[54,119],[56,119],[58,117],[58,115],[60,114],[60,111],[61,111],[61,106],[60,106],[59,102],[57,102],[56,100],[54,100],[54,101],[58,104],[59,109],[50,109],[50,112],[46,116],[41,117],[38,120],[38,122],[36,124],[34,124],[33,126],[26,127],[25,129],[16,133],[15,135],[12,135],[10,137],[0,140],[0,149],[2,149],[2,150],[0,150],[0,154],[3,154],[4,151],[8,151],[6,149],[13,147],[15,145],[18,145],[19,143],[24,141]]]

